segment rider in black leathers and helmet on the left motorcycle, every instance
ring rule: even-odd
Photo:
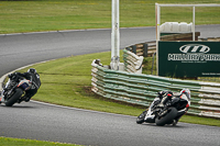
[[[19,81],[19,77],[24,77],[25,79],[32,82],[32,86],[25,93],[25,102],[29,102],[30,99],[37,92],[38,88],[41,87],[40,75],[36,72],[36,69],[30,68],[28,72],[13,72],[8,76],[10,79],[14,81]]]

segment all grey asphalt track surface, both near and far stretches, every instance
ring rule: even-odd
[[[220,36],[220,25],[197,26],[201,37]],[[0,35],[0,76],[19,67],[110,50],[110,30]],[[155,27],[121,29],[121,48],[155,41]],[[95,58],[91,58],[91,60]],[[92,146],[220,146],[220,127],[178,123],[136,124],[134,116],[31,101],[0,105],[0,136]]]

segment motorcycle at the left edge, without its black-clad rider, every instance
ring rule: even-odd
[[[19,77],[19,81],[9,78],[1,92],[0,103],[4,103],[7,106],[12,106],[14,103],[25,101],[25,91],[29,90],[31,86],[32,82],[23,77]]]

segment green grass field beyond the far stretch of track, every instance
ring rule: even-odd
[[[158,0],[158,3],[220,3]],[[184,14],[183,14],[184,13]],[[162,8],[162,23],[191,22],[191,8]],[[219,8],[196,8],[196,24],[220,24]],[[154,26],[154,0],[120,0],[120,26]],[[111,27],[111,0],[0,1],[0,33]]]

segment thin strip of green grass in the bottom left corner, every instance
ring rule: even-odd
[[[63,143],[55,143],[55,142],[9,138],[9,137],[0,137],[0,142],[1,142],[1,146],[81,146],[81,145],[76,145],[76,144],[63,144]]]

